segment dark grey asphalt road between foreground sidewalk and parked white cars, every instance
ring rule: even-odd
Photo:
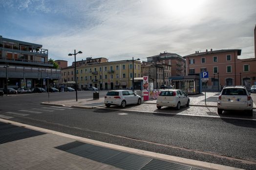
[[[79,92],[78,96],[90,98],[92,92]],[[52,101],[74,97],[75,93],[50,94]],[[39,104],[47,100],[46,94],[0,98],[0,115],[12,117],[10,120],[13,121],[131,148],[247,170],[256,169],[254,120],[60,108]]]

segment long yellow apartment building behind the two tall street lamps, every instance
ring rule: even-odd
[[[62,69],[62,82],[74,79],[74,63],[72,66]],[[131,89],[132,88],[132,61],[121,60],[108,62],[106,58],[91,57],[77,62],[77,84],[79,88],[90,86],[99,89]],[[141,62],[134,61],[134,77],[141,76]],[[135,89],[140,88],[140,84],[135,84]]]

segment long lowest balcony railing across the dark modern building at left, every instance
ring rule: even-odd
[[[30,64],[30,65],[43,65],[43,66],[53,66],[53,63],[51,63],[51,62],[25,60],[25,59],[21,59],[21,58],[17,59],[17,58],[0,57],[0,62]]]

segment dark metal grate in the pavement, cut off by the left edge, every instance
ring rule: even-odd
[[[45,133],[11,124],[0,123],[0,144],[43,134]]]

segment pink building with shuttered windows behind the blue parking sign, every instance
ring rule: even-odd
[[[249,88],[256,82],[256,58],[238,59],[238,55],[241,55],[238,49],[195,51],[184,56],[187,75],[208,71],[208,88],[220,90],[221,85],[245,85]]]

